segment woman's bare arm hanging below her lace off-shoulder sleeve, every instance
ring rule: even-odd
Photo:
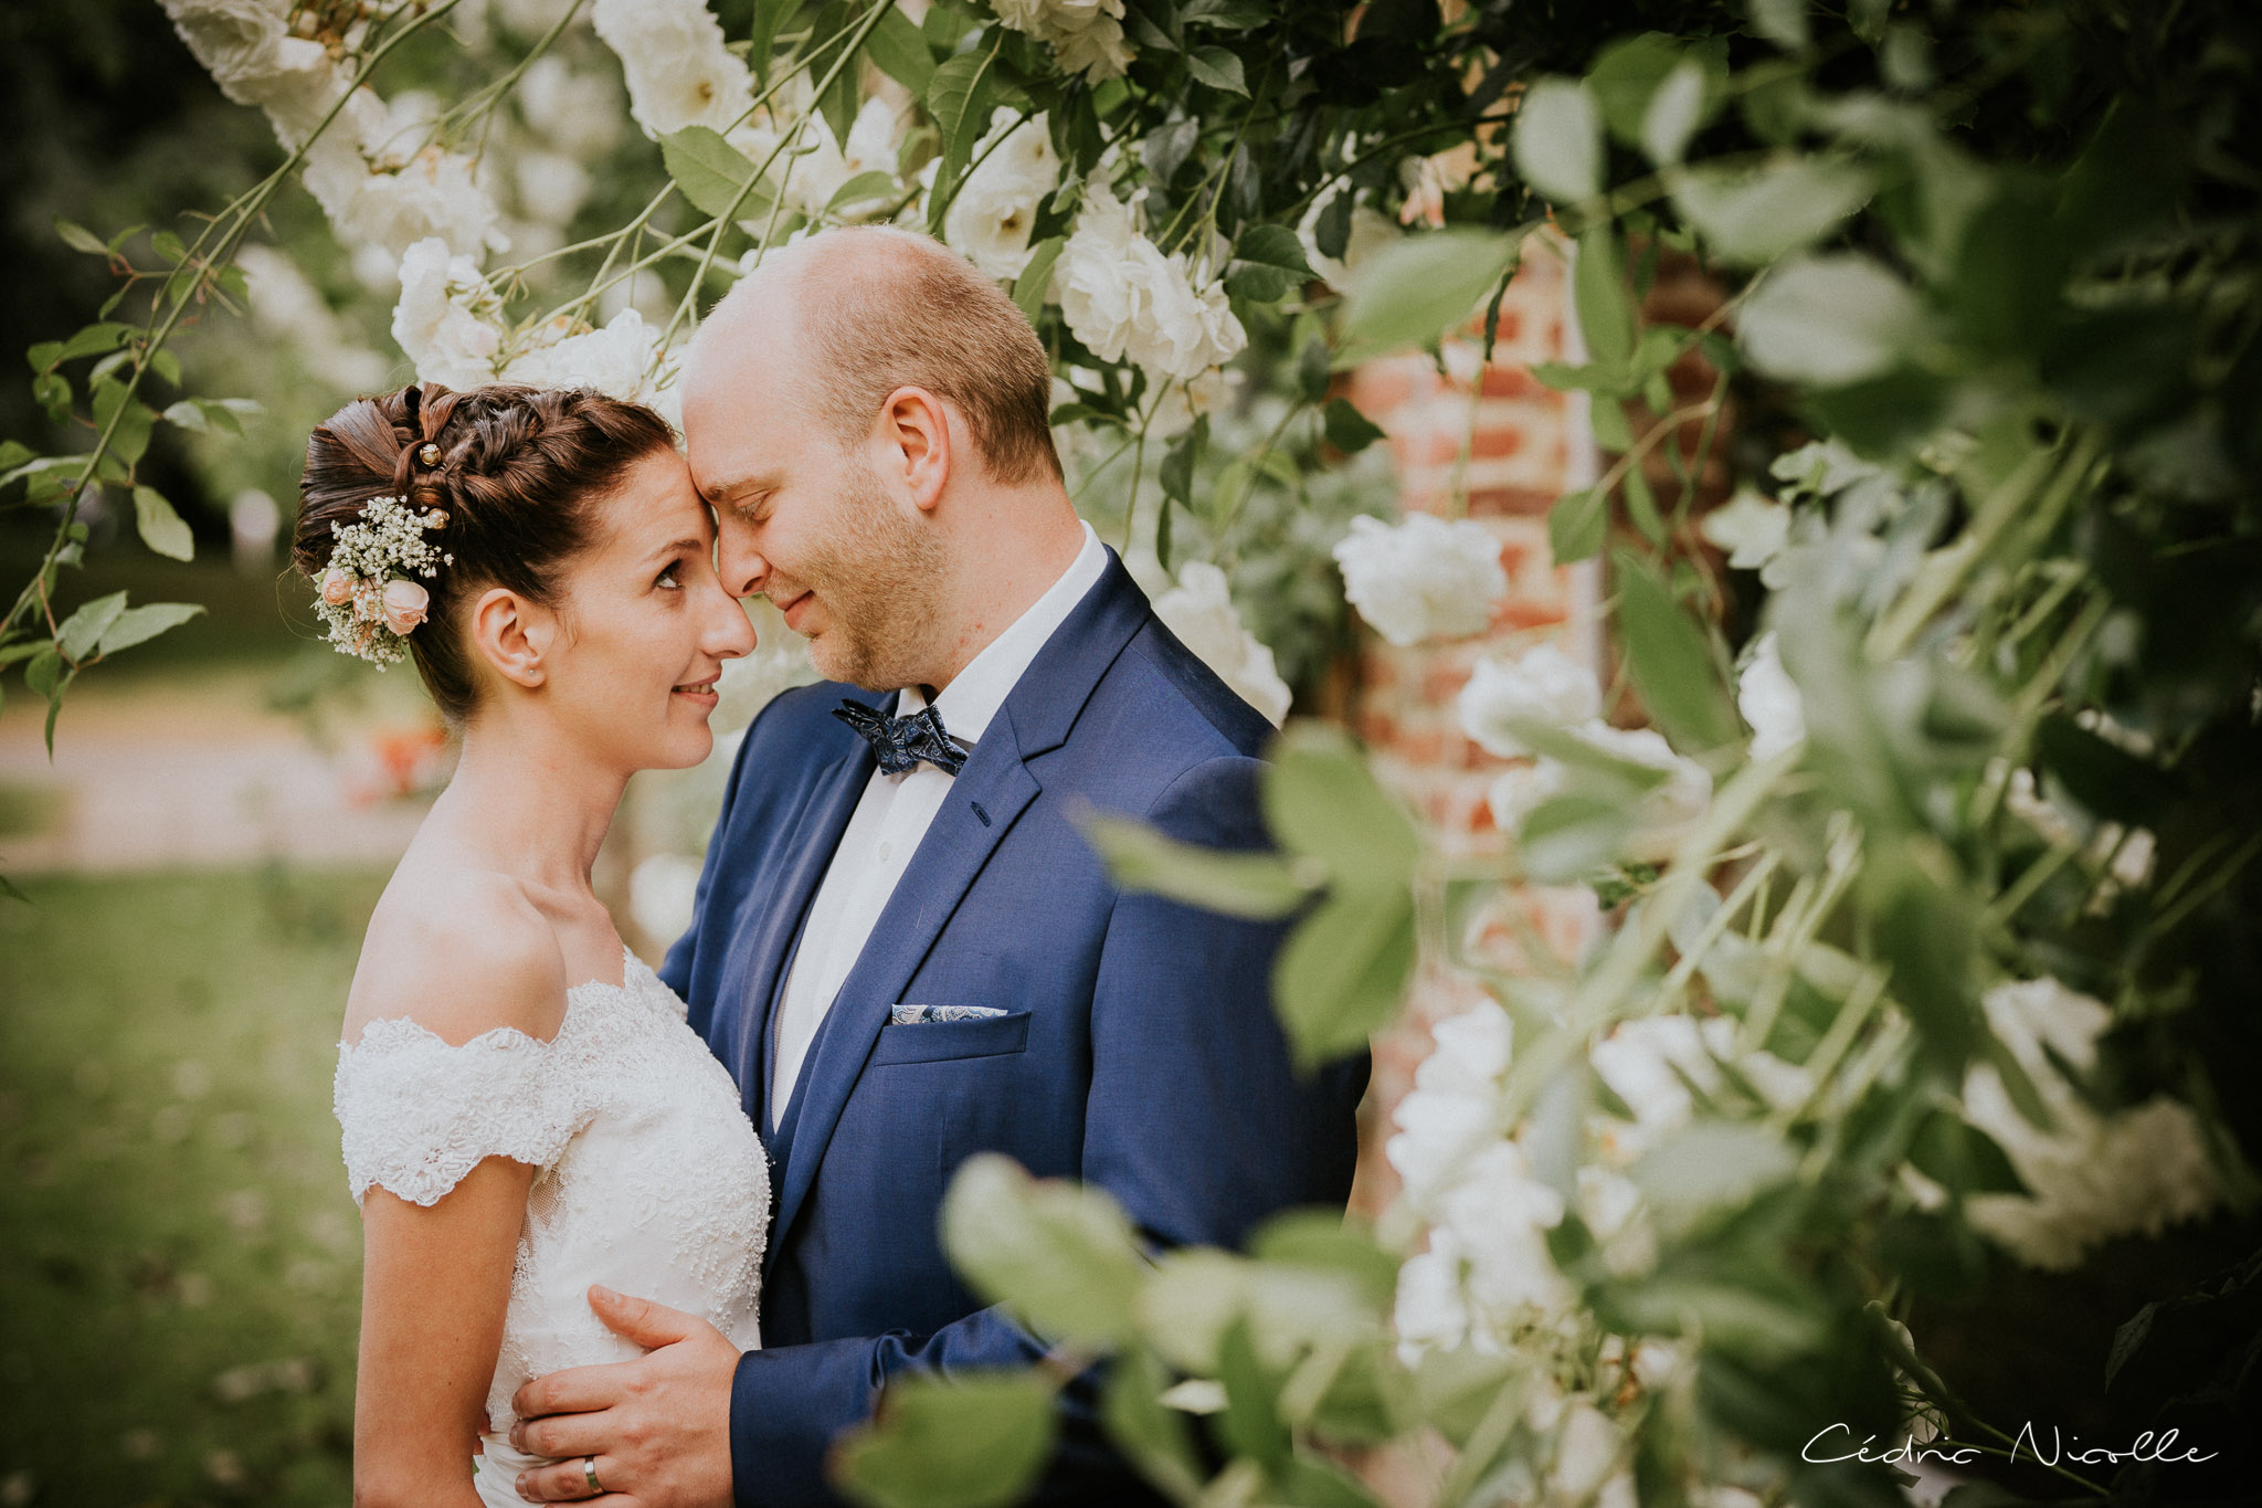
[[[532,1182],[525,1162],[486,1158],[430,1210],[382,1187],[362,1201],[355,1508],[477,1508],[470,1456]]]

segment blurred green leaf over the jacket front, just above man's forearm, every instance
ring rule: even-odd
[[[1145,1262],[1102,1189],[975,1153],[943,1196],[943,1248],[968,1286],[1045,1338],[1115,1347],[1138,1327]]]

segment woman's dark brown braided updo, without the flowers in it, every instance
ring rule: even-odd
[[[360,522],[371,497],[443,513],[423,538],[455,558],[421,579],[430,604],[405,642],[459,728],[477,701],[461,610],[491,586],[554,604],[559,567],[593,543],[599,504],[663,450],[674,450],[667,421],[584,389],[425,382],[357,398],[305,443],[292,561],[321,581],[333,525]]]

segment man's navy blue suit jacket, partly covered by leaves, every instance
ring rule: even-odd
[[[778,696],[749,728],[661,977],[737,1078],[769,1144],[776,1219],[762,1350],[731,1399],[737,1503],[832,1503],[832,1440],[905,1370],[1020,1366],[1043,1345],[943,1257],[957,1164],[1000,1151],[1122,1201],[1149,1239],[1237,1246],[1292,1205],[1341,1205],[1366,1060],[1298,1076],[1271,1013],[1278,925],[1120,891],[1086,812],[1212,848],[1262,846],[1271,728],[1154,617],[1111,554],[982,735],[810,1047],[767,1103],[771,1011],[810,900],[873,771],[832,717]],[[893,1004],[1000,1017],[889,1026]],[[1043,1501],[1151,1501],[1063,1395]]]

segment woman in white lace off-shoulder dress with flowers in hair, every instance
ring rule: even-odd
[[[330,640],[412,658],[464,744],[346,999],[355,1503],[520,1503],[511,1393],[638,1354],[590,1286],[758,1345],[762,1146],[590,891],[629,775],[706,757],[753,649],[713,543],[667,425],[588,391],[409,387],[308,443],[292,554]]]

